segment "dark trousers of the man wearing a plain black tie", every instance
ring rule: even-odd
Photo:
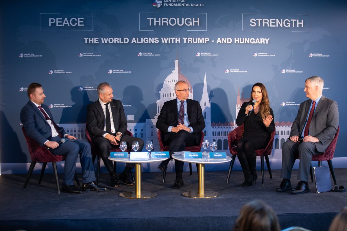
[[[104,138],[103,136],[94,137],[94,139],[92,141],[95,145],[95,148],[98,149],[99,155],[102,158],[102,160],[104,161],[104,165],[107,168],[107,170],[109,172],[114,171],[113,162],[111,160],[109,160],[108,157],[110,156],[110,149],[119,148],[119,144],[118,145],[112,145],[110,143],[110,141],[108,139]],[[144,141],[141,138],[129,136],[126,134],[124,134],[120,138],[120,141],[127,142],[128,148],[132,147],[133,141],[138,141],[138,145],[140,146],[140,148],[138,150],[139,152],[142,151],[143,146],[144,146]],[[134,168],[135,163],[127,163],[126,167]]]

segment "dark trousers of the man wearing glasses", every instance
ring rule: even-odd
[[[182,152],[186,147],[196,146],[195,134],[181,130],[177,133],[170,133],[169,139],[164,142],[165,146],[169,146],[170,159],[174,152]],[[183,171],[183,161],[175,160],[175,170]]]

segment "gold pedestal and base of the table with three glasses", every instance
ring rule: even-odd
[[[120,193],[119,196],[130,199],[146,199],[158,196],[157,193],[141,192],[141,163],[135,163],[135,192]]]

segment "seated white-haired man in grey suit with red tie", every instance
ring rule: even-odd
[[[339,126],[339,111],[334,100],[325,98],[323,79],[312,76],[305,81],[306,97],[309,100],[300,104],[298,114],[291,126],[289,140],[282,147],[283,178],[277,192],[291,190],[293,194],[310,192],[307,185],[313,155],[325,152],[333,140]],[[295,162],[295,153],[299,153],[300,180],[295,189],[291,188],[290,176]]]

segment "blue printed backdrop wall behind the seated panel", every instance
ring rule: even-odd
[[[345,1],[1,1],[1,171],[25,172],[30,162],[19,113],[31,82],[43,85],[55,121],[80,139],[86,106],[109,82],[128,129],[158,151],[156,115],[175,98],[178,73],[201,101],[206,137],[227,153],[239,104],[264,83],[277,122],[275,168],[306,100],[305,79],[322,77],[323,94],[339,105],[335,162],[346,163],[346,22]]]

